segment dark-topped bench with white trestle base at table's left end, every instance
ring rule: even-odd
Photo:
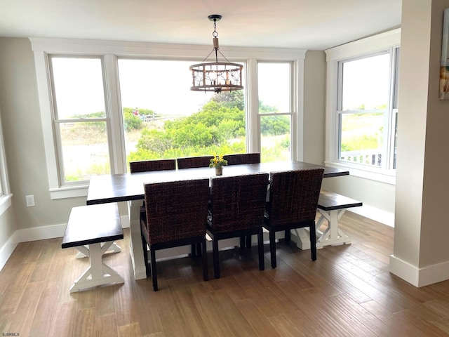
[[[71,293],[124,282],[115,270],[102,263],[103,253],[118,239],[123,239],[123,230],[116,203],[72,208],[61,247],[75,247],[89,257],[91,265],[76,279],[70,288]]]

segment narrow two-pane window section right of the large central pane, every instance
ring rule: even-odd
[[[259,62],[257,90],[259,96],[261,161],[291,160],[292,63]]]

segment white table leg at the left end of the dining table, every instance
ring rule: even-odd
[[[146,279],[147,269],[143,259],[142,238],[140,232],[140,206],[142,200],[128,201],[130,239],[129,248],[135,279]]]

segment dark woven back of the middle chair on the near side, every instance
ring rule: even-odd
[[[212,179],[210,205],[213,232],[262,227],[268,173]]]

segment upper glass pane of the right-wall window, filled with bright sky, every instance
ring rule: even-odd
[[[390,54],[343,63],[342,110],[385,109],[389,97]]]

